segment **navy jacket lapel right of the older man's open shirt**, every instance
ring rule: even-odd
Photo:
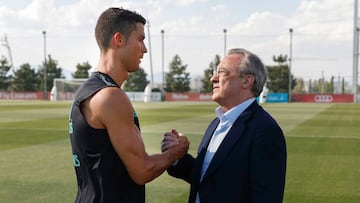
[[[217,149],[213,159],[210,162],[210,165],[207,171],[204,174],[203,180],[206,179],[208,175],[216,171],[216,169],[221,165],[222,161],[227,157],[228,153],[232,147],[238,142],[241,135],[243,134],[246,126],[245,121],[248,120],[253,112],[257,109],[257,102],[252,103],[235,121],[224,140]],[[212,135],[212,134],[211,134]],[[210,136],[211,138],[211,136]],[[207,148],[207,145],[206,145]],[[202,163],[202,162],[201,162]]]

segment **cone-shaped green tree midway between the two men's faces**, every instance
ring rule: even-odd
[[[175,55],[169,64],[169,72],[166,73],[167,92],[187,92],[190,90],[190,73],[186,72],[187,65],[183,65],[179,55]]]

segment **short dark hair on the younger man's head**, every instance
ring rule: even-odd
[[[95,27],[96,42],[102,51],[110,46],[110,38],[120,32],[127,39],[136,30],[136,24],[145,25],[146,20],[135,11],[123,8],[108,8],[99,17]]]

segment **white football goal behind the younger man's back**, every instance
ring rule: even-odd
[[[88,78],[54,78],[50,92],[51,101],[73,100],[76,91]]]

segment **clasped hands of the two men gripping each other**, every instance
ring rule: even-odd
[[[171,132],[164,133],[164,138],[161,141],[161,152],[170,153],[171,159],[175,162],[187,153],[189,145],[187,137],[173,129]]]

